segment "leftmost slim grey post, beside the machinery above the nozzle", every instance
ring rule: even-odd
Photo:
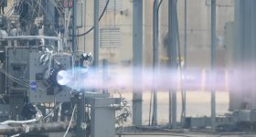
[[[73,0],[73,19],[74,19],[74,25],[73,25],[73,37],[72,37],[72,47],[73,47],[73,53],[75,57],[77,56],[77,37],[74,37],[77,35],[77,0]]]

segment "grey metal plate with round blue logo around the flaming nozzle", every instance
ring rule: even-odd
[[[28,85],[34,85],[34,88],[29,87],[28,90],[28,100],[29,102],[54,102],[54,94],[59,90],[59,88],[54,88],[53,91],[49,91],[48,87],[43,84],[43,81],[36,81],[37,73],[42,73],[46,68],[48,68],[48,62],[44,66],[39,65],[39,58],[43,53],[30,52],[29,53],[29,65],[28,65]],[[56,59],[63,65],[64,68],[69,68],[71,66],[71,58],[67,56],[56,57]],[[54,64],[53,67],[57,67]],[[36,82],[36,83],[33,83]],[[37,86],[35,86],[37,85]],[[70,101],[70,89],[66,87],[64,90],[56,95],[56,101]]]

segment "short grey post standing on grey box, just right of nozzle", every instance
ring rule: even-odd
[[[108,59],[103,59],[102,64],[102,93],[107,94],[108,93]]]

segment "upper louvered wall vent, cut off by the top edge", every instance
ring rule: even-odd
[[[99,1],[99,10],[100,13],[103,11],[108,0],[100,0]],[[107,12],[119,12],[123,10],[123,0],[110,0],[109,5],[107,7]]]

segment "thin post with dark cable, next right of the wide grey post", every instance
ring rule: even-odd
[[[154,17],[153,17],[153,43],[154,43],[154,65],[153,65],[153,92],[154,92],[154,107],[153,107],[153,125],[157,125],[157,100],[156,100],[156,92],[157,92],[157,31],[158,31],[158,10],[157,10],[157,1],[154,2]]]

